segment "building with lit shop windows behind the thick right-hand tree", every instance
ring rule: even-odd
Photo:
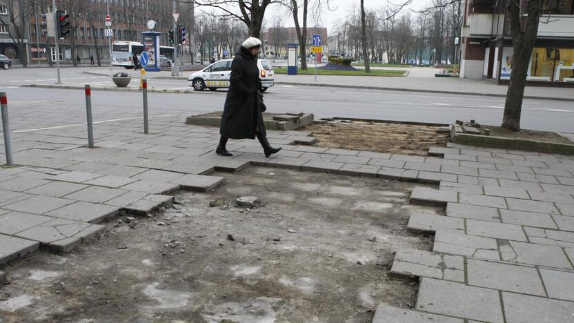
[[[460,77],[509,79],[513,42],[507,1],[465,0]],[[527,1],[522,1],[526,10]],[[574,1],[544,0],[528,81],[574,82]]]

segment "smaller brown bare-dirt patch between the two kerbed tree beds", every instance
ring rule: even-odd
[[[437,133],[437,126],[390,122],[348,121],[313,124],[297,130],[310,131],[316,146],[402,155],[428,154],[431,146],[444,147],[448,134]]]

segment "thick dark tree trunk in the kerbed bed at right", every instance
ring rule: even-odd
[[[502,128],[511,131],[520,130],[520,115],[522,112],[522,99],[528,74],[528,63],[538,33],[538,20],[542,0],[528,1],[528,17],[526,30],[522,32],[521,10],[515,1],[508,1],[508,16],[510,17],[511,34],[513,40],[513,65],[510,84],[506,91],[504,103],[504,117]]]

